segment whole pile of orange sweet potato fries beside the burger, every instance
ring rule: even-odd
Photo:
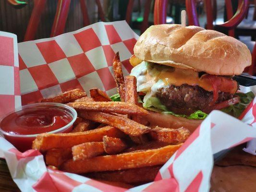
[[[44,99],[75,108],[78,118],[72,132],[39,134],[32,147],[45,155],[47,165],[66,172],[132,185],[152,181],[190,132],[149,127],[143,119],[148,111],[138,103],[136,78],[123,77],[118,53],[113,71],[121,102],[98,88],[90,89],[90,97],[74,89]]]

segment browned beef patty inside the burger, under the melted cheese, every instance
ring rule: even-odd
[[[158,90],[157,97],[171,111],[176,113],[183,112],[187,114],[196,110],[205,111],[213,99],[213,92],[204,90],[199,86],[183,84],[181,86],[168,85]],[[216,103],[233,98],[234,95],[219,92],[219,98]]]

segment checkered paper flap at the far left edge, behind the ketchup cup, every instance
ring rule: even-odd
[[[0,32],[0,117],[21,106],[17,36]]]

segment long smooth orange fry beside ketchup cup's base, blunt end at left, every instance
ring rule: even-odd
[[[42,133],[37,135],[37,138],[33,141],[32,148],[42,152],[54,148],[71,148],[77,144],[102,141],[104,135],[117,138],[125,136],[123,132],[111,126],[86,132]]]

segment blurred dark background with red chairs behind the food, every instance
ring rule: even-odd
[[[187,25],[241,40],[255,63],[255,7],[256,0],[0,0],[0,31],[14,33],[23,42],[99,21],[126,20],[140,35],[152,24],[181,24],[181,11],[186,10]]]

